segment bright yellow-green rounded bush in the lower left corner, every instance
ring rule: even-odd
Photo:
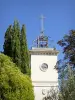
[[[34,100],[31,80],[0,54],[0,100]]]

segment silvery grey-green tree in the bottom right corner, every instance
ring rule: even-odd
[[[64,70],[64,77],[61,79],[60,84],[60,95],[59,100],[75,100],[75,77],[71,69],[71,66],[68,65]],[[67,77],[65,77],[67,74]]]

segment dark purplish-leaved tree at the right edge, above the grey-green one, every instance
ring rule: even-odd
[[[63,47],[64,59],[75,66],[75,30],[70,30],[58,44]]]

